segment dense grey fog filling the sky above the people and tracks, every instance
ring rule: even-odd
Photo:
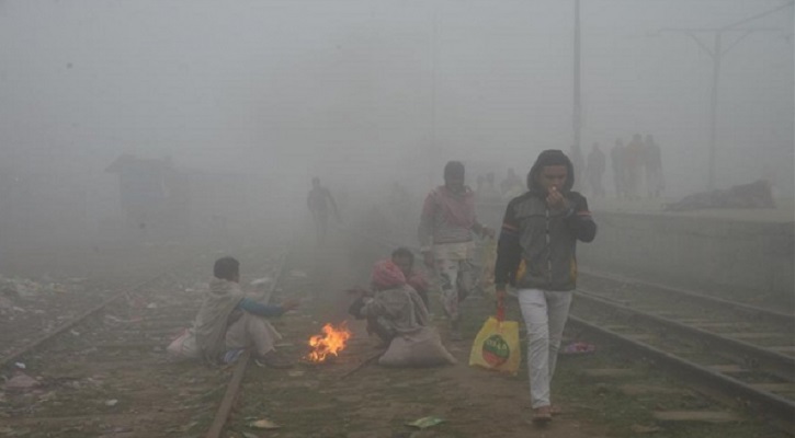
[[[654,135],[665,197],[704,191],[707,50],[740,23],[722,32],[715,187],[792,198],[784,4],[582,1],[583,154]],[[350,221],[396,183],[421,203],[447,160],[473,186],[524,175],[572,147],[573,31],[573,0],[0,1],[0,272],[21,247],[143,234],[130,162],[162,172],[180,239],[307,223],[313,176]]]

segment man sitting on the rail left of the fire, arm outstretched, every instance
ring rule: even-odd
[[[228,353],[252,348],[253,357],[272,368],[288,368],[292,362],[274,347],[282,335],[265,320],[295,309],[297,300],[265,306],[246,298],[240,289],[240,263],[234,257],[215,262],[209,291],[193,327],[196,346],[205,360],[217,364]],[[234,356],[234,355],[231,355]]]

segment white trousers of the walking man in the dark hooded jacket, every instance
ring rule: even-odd
[[[549,406],[549,384],[555,374],[560,339],[569,316],[571,291],[520,289],[522,319],[527,327],[527,374],[533,408]]]

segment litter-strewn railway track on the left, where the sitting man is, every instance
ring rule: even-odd
[[[285,254],[240,257],[243,276],[276,278]],[[248,360],[212,368],[174,362],[166,354],[201,306],[194,285],[208,278],[212,261],[197,265],[98,297],[3,356],[0,436],[220,436]]]

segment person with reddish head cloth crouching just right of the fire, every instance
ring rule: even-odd
[[[391,260],[375,264],[371,285],[373,297],[357,298],[349,312],[356,319],[366,319],[368,332],[378,335],[384,344],[428,325],[428,309],[422,298],[406,283],[402,270]]]

